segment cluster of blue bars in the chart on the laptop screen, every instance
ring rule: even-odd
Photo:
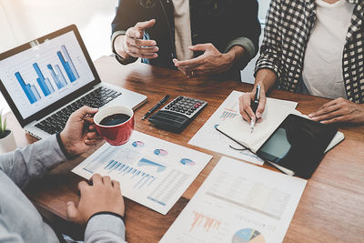
[[[50,54],[48,58],[54,64],[47,64],[44,66],[44,71],[41,70],[36,62],[32,67],[29,66],[29,68],[32,68],[35,71],[37,76],[36,84],[41,90],[38,90],[35,85],[25,84],[24,78],[20,72],[15,73],[15,77],[23,88],[25,96],[28,98],[30,104],[34,104],[41,99],[40,92],[42,92],[43,96],[49,96],[56,91],[56,88],[61,89],[67,86],[69,82],[73,83],[80,77],[71,56],[69,56],[66,46],[61,46],[60,51]],[[63,69],[61,69],[58,64],[59,62]],[[48,76],[45,76],[45,71]]]

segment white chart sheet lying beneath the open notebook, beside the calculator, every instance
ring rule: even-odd
[[[261,160],[255,154],[249,152],[244,147],[232,139],[226,137],[218,132],[216,127],[223,121],[232,119],[239,115],[238,97],[243,95],[243,92],[233,90],[225,101],[217,108],[217,111],[207,120],[203,127],[201,127],[197,134],[189,140],[188,144],[207,148],[217,153],[225,154],[230,157],[236,157],[245,161],[263,165]],[[286,100],[279,100],[286,106],[295,108],[298,103]]]

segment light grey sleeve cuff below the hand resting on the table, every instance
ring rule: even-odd
[[[123,220],[113,215],[102,214],[91,218],[86,226],[85,243],[126,242]]]

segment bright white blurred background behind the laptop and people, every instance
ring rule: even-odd
[[[259,19],[264,22],[270,0],[258,0]],[[117,0],[0,0],[0,53],[46,35],[66,25],[76,24],[93,60],[109,55],[111,21]],[[243,74],[254,82],[255,60]],[[0,110],[9,110],[0,94]]]

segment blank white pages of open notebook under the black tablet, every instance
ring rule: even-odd
[[[256,153],[259,147],[264,144],[289,114],[308,117],[300,114],[298,110],[285,105],[283,100],[267,98],[262,122],[256,123],[253,133],[250,133],[250,124],[244,121],[240,115],[224,121],[217,127],[217,130]],[[325,152],[339,144],[343,139],[344,135],[338,131]]]

